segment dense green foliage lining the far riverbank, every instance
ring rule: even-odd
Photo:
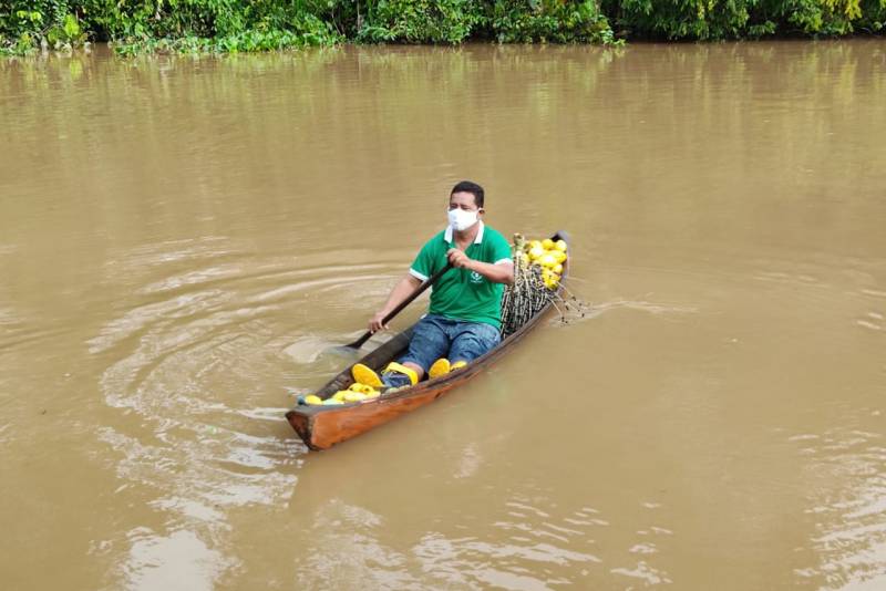
[[[0,0],[0,52],[883,34],[886,0]]]

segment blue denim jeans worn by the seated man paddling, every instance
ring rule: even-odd
[[[471,362],[487,352],[502,340],[498,329],[485,322],[452,320],[436,314],[427,314],[415,324],[409,351],[399,363],[414,363],[427,373],[440,357]],[[388,386],[408,385],[409,377],[401,373],[382,376]]]

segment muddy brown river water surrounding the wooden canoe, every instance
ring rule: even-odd
[[[884,40],[96,48],[0,117],[4,588],[886,588]],[[462,178],[587,314],[308,453]]]

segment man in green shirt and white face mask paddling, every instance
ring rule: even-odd
[[[412,294],[423,281],[450,269],[431,287],[429,313],[415,325],[409,351],[379,376],[358,363],[357,382],[373,387],[416,384],[425,374],[437,377],[462,367],[501,341],[502,294],[514,282],[511,246],[483,224],[483,187],[470,180],[450,193],[449,227],[419,251],[409,272],[391,290],[388,302],[369,321],[372,332],[387,329],[384,317]]]

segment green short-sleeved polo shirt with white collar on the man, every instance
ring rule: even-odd
[[[493,265],[511,262],[511,245],[496,230],[480,222],[480,231],[465,255]],[[452,228],[431,238],[419,251],[409,272],[422,281],[446,265],[446,251],[455,248]],[[504,283],[494,283],[475,271],[450,269],[431,287],[432,314],[453,320],[485,322],[502,328]]]

